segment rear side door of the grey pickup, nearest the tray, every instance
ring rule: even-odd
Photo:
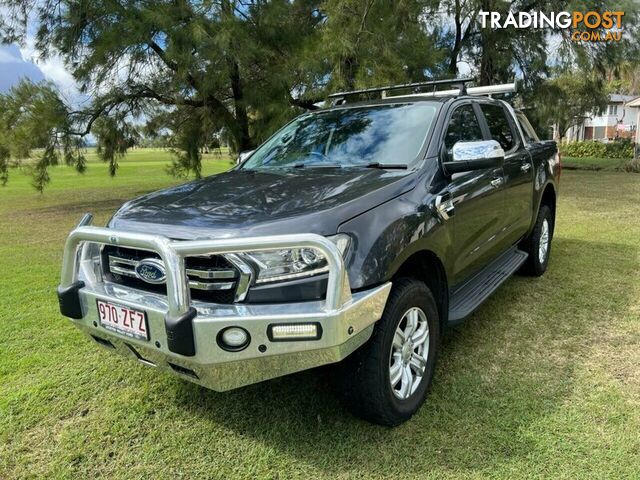
[[[533,165],[511,113],[501,103],[480,103],[491,138],[505,152],[504,218],[500,243],[506,248],[529,229],[533,208]]]

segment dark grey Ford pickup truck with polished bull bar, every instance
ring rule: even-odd
[[[449,89],[442,89],[442,87]],[[230,171],[68,237],[60,310],[95,342],[225,391],[336,364],[355,414],[424,402],[443,331],[542,275],[560,157],[466,79],[330,96]]]

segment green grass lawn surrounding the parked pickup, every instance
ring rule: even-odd
[[[563,173],[546,275],[451,330],[426,404],[388,429],[340,408],[329,368],[215,393],[60,316],[67,233],[175,183],[166,155],[0,189],[0,478],[640,478],[640,176]]]

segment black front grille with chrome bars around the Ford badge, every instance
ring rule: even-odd
[[[102,269],[109,281],[166,295],[164,283],[148,283],[136,274],[138,263],[149,258],[160,259],[160,255],[146,250],[105,245],[102,249]],[[225,257],[187,257],[185,270],[191,298],[213,303],[234,302],[240,272]]]

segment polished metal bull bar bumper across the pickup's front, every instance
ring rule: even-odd
[[[87,223],[85,221],[85,223]],[[145,292],[102,279],[89,244],[144,248],[160,254],[167,268],[167,295]],[[312,247],[327,258],[324,301],[219,305],[189,297],[184,258],[190,255]],[[170,371],[217,391],[342,360],[366,342],[382,316],[391,283],[351,293],[337,247],[319,235],[254,237],[232,240],[172,241],[165,237],[82,225],[67,240],[58,295],[61,311],[101,345],[145,365]],[[150,339],[129,338],[98,323],[96,300],[147,312]],[[272,341],[270,325],[318,323],[317,340]],[[249,345],[237,352],[216,338],[226,327],[244,328]]]

